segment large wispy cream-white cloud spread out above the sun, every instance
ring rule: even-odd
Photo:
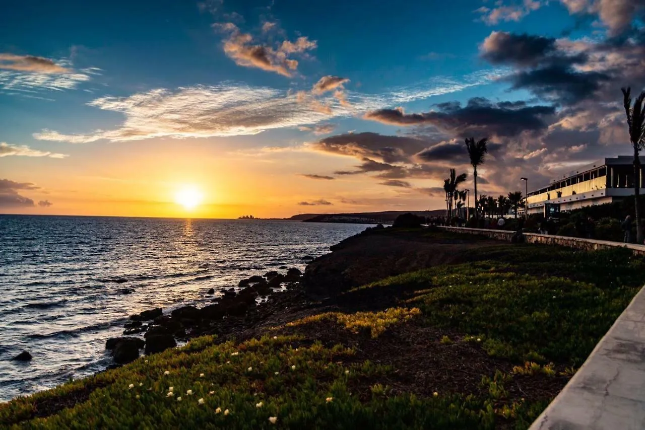
[[[157,89],[130,97],[101,97],[88,104],[123,113],[125,120],[114,130],[95,130],[79,135],[43,130],[35,133],[34,137],[72,143],[100,139],[135,141],[154,137],[224,137],[315,124],[330,117],[328,113],[297,103],[295,95],[243,84],[192,86],[175,91]],[[347,113],[341,111],[336,114]]]

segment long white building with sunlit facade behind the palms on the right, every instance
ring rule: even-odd
[[[633,157],[620,155],[581,166],[551,181],[549,186],[528,193],[528,213],[557,215],[584,206],[611,203],[634,195]],[[645,157],[640,157],[640,193],[643,188]],[[518,213],[524,213],[522,207]]]

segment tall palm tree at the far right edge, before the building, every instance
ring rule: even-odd
[[[634,198],[636,208],[636,243],[642,244],[643,231],[640,225],[640,158],[639,152],[645,146],[645,91],[641,92],[631,106],[631,88],[620,88],[623,95],[625,113],[627,114],[627,126],[630,133],[631,146],[634,148]]]

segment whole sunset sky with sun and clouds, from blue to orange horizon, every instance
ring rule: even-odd
[[[35,12],[37,11],[37,13]],[[0,213],[444,207],[629,155],[643,0],[9,0]]]

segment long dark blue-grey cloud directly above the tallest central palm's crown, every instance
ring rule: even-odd
[[[492,103],[475,97],[466,107],[461,104],[442,103],[439,110],[407,114],[402,108],[381,109],[368,112],[366,119],[399,126],[433,125],[451,135],[489,135],[511,137],[522,132],[536,132],[548,127],[546,117],[555,113],[553,106],[518,106],[509,103]]]

